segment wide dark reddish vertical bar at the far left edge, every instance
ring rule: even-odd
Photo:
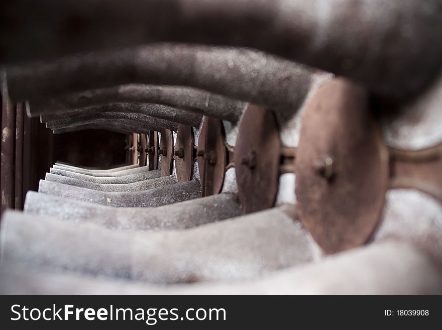
[[[4,77],[2,77],[4,78]],[[8,95],[6,79],[2,79],[2,156],[0,182],[2,186],[0,212],[5,208],[14,208],[14,142],[16,125],[16,107]]]

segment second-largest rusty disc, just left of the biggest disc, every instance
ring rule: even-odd
[[[235,145],[238,194],[246,213],[272,207],[279,186],[281,141],[276,118],[250,104]]]

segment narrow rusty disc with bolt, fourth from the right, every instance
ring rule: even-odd
[[[178,125],[173,158],[175,160],[176,177],[179,183],[192,179],[194,141],[192,127],[182,124]]]

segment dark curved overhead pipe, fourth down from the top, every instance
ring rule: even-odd
[[[60,109],[58,111],[60,112]],[[162,104],[143,103],[108,103],[88,106],[62,112],[58,116],[45,116],[41,119],[43,122],[46,122],[46,127],[55,128],[57,126],[68,127],[75,120],[83,120],[85,118],[113,118],[110,116],[130,119],[139,118],[140,121],[154,123],[159,127],[166,126],[166,123],[169,122],[167,125],[172,128],[176,126],[172,123],[199,127],[202,120],[202,115],[200,114],[194,114]],[[160,126],[159,123],[164,124]]]

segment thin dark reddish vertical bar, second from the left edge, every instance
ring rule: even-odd
[[[23,129],[25,104],[17,103],[16,161],[15,161],[15,208],[23,207]]]

